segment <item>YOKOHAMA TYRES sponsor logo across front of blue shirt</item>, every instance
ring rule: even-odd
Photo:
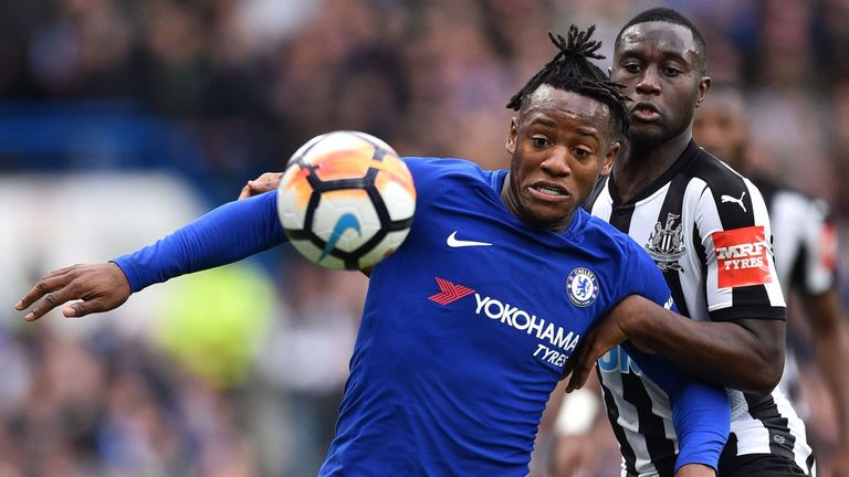
[[[436,279],[440,293],[431,295],[428,299],[440,305],[448,305],[474,294],[474,314],[536,338],[539,342],[537,342],[533,356],[541,361],[563,368],[572,351],[578,346],[580,340],[579,333],[567,331],[562,326],[545,318],[539,318],[535,314],[511,305],[507,301],[475,293],[475,290],[464,285],[458,285],[440,277],[436,277]],[[596,286],[595,294],[589,292],[586,296],[595,299],[597,290],[598,287]]]

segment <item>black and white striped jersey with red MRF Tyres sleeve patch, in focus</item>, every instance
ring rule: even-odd
[[[654,258],[679,311],[692,319],[784,319],[772,229],[758,189],[691,141],[675,163],[627,203],[614,182],[585,204]],[[678,439],[669,400],[621,348],[598,361],[604,399],[623,456],[623,476],[672,476]],[[729,390],[732,435],[724,455],[775,453],[808,469],[805,426],[780,390]],[[722,463],[721,463],[722,465]]]

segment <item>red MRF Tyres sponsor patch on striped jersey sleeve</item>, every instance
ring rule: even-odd
[[[714,232],[720,288],[763,285],[773,280],[762,225]]]

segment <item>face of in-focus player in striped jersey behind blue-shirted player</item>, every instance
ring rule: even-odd
[[[633,99],[632,142],[660,145],[689,135],[695,106],[710,86],[698,66],[693,34],[685,26],[654,21],[622,32],[610,77],[626,85]]]

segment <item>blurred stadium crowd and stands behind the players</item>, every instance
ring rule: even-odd
[[[700,26],[710,74],[745,87],[756,163],[830,200],[845,245],[847,0],[0,3],[0,476],[314,475],[358,274],[275,250],[82,320],[23,324],[12,304],[53,268],[234,199],[328,130],[504,167],[504,105],[551,57],[545,33],[595,23],[609,56],[619,26],[657,4]],[[835,420],[806,327],[792,327],[827,457]]]

